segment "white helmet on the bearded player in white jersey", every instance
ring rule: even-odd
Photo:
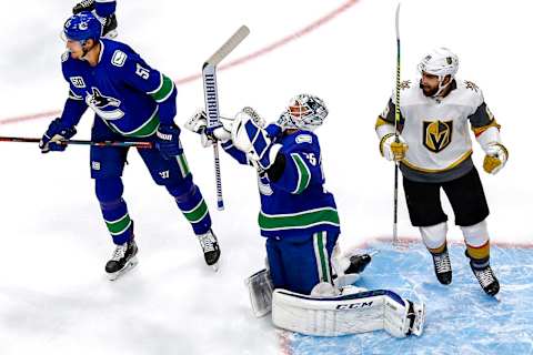
[[[428,53],[419,64],[419,72],[439,77],[439,91],[433,95],[438,97],[452,80],[443,85],[444,78],[455,78],[459,69],[459,58],[447,48],[441,47]]]

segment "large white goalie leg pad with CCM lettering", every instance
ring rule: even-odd
[[[339,336],[385,329],[393,336],[421,335],[423,305],[410,307],[398,294],[368,291],[316,298],[275,290],[272,322],[275,326],[314,336]]]

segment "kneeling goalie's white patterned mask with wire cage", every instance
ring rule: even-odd
[[[286,129],[314,131],[328,116],[324,102],[310,94],[299,94],[291,99],[278,124]]]

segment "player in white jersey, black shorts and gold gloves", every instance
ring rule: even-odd
[[[394,94],[375,130],[381,154],[400,164],[411,223],[419,227],[433,256],[438,280],[452,282],[442,187],[463,232],[472,271],[482,288],[495,295],[500,284],[490,266],[489,207],[471,158],[470,129],[486,154],[485,172],[496,174],[505,166],[509,153],[481,89],[455,78],[457,68],[459,59],[449,49],[439,48],[424,57],[419,64],[420,82],[401,84],[398,141]]]

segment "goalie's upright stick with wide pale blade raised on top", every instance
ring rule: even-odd
[[[205,100],[205,112],[208,113],[208,132],[211,133],[215,128],[220,126],[219,119],[219,92],[217,89],[217,65],[230,52],[235,49],[250,33],[248,27],[242,26],[233,36],[211,55],[202,67],[203,94]],[[217,182],[217,207],[224,210],[224,201],[222,199],[222,180],[220,176],[219,143],[213,143],[214,154],[214,179]]]

